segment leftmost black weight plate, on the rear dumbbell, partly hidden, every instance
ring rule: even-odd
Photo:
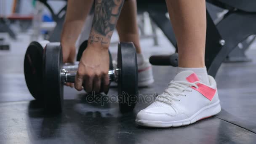
[[[38,42],[30,43],[24,58],[24,75],[29,92],[40,102],[43,102],[42,63],[42,45]]]

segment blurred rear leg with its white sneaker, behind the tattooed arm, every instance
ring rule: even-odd
[[[135,45],[137,52],[139,87],[145,87],[152,84],[154,78],[151,64],[144,59],[144,56],[141,53],[136,0],[125,0],[116,28],[120,41],[133,42]]]

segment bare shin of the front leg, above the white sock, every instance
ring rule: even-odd
[[[205,67],[205,0],[166,0],[178,43],[179,67]]]

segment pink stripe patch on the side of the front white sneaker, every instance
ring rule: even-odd
[[[190,83],[195,83],[197,81],[199,81],[197,75],[195,73],[189,75],[186,80]],[[210,101],[213,99],[213,96],[216,93],[216,89],[210,88],[207,85],[201,84],[201,83],[197,83],[196,84],[198,86],[198,88],[195,87],[191,87],[194,90],[198,91],[199,93],[201,93],[203,96],[205,96],[207,99],[209,99]]]

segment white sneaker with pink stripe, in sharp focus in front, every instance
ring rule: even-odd
[[[201,83],[193,71],[180,72],[163,94],[141,110],[136,123],[148,127],[189,125],[221,111],[216,82],[208,76],[210,85]]]

